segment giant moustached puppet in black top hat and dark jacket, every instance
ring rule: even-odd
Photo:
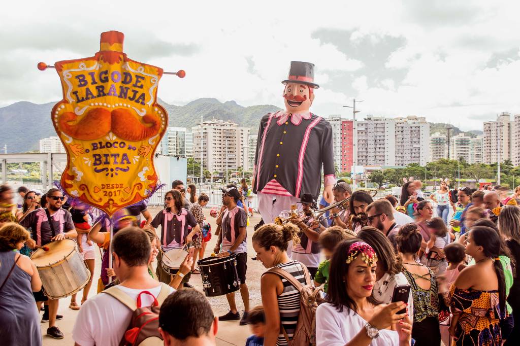
[[[332,202],[335,183],[332,127],[309,111],[314,101],[314,64],[292,61],[283,99],[285,111],[269,113],[258,129],[253,192],[265,223],[274,222],[282,210],[300,202],[304,193],[318,197],[321,167],[323,197]]]

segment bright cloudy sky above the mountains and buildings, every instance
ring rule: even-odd
[[[426,116],[482,129],[520,113],[520,3],[511,1],[65,2],[3,3],[0,107],[61,99],[54,70],[38,61],[92,56],[99,34],[125,34],[128,57],[164,76],[159,97],[275,104],[291,60],[316,64],[311,110]]]

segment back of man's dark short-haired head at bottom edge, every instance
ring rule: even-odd
[[[214,346],[217,330],[218,318],[197,290],[176,291],[161,305],[159,332],[166,346]]]

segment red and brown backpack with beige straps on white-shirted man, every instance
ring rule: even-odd
[[[131,299],[117,286],[110,287],[101,293],[106,293],[119,300],[132,310],[132,320],[126,328],[125,334],[119,343],[123,345],[163,345],[163,339],[159,334],[159,309],[163,301],[170,295],[170,286],[161,283],[161,292],[157,299],[149,292],[142,291],[136,301]],[[141,295],[148,294],[153,297],[150,307],[141,307]]]

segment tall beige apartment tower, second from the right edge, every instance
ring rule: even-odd
[[[500,159],[500,162],[506,159],[513,161],[512,127],[513,122],[511,122],[509,112],[498,115],[496,121],[484,122],[484,163],[495,163],[498,159]],[[517,147],[516,144],[515,146]],[[516,151],[515,148],[515,153]]]

